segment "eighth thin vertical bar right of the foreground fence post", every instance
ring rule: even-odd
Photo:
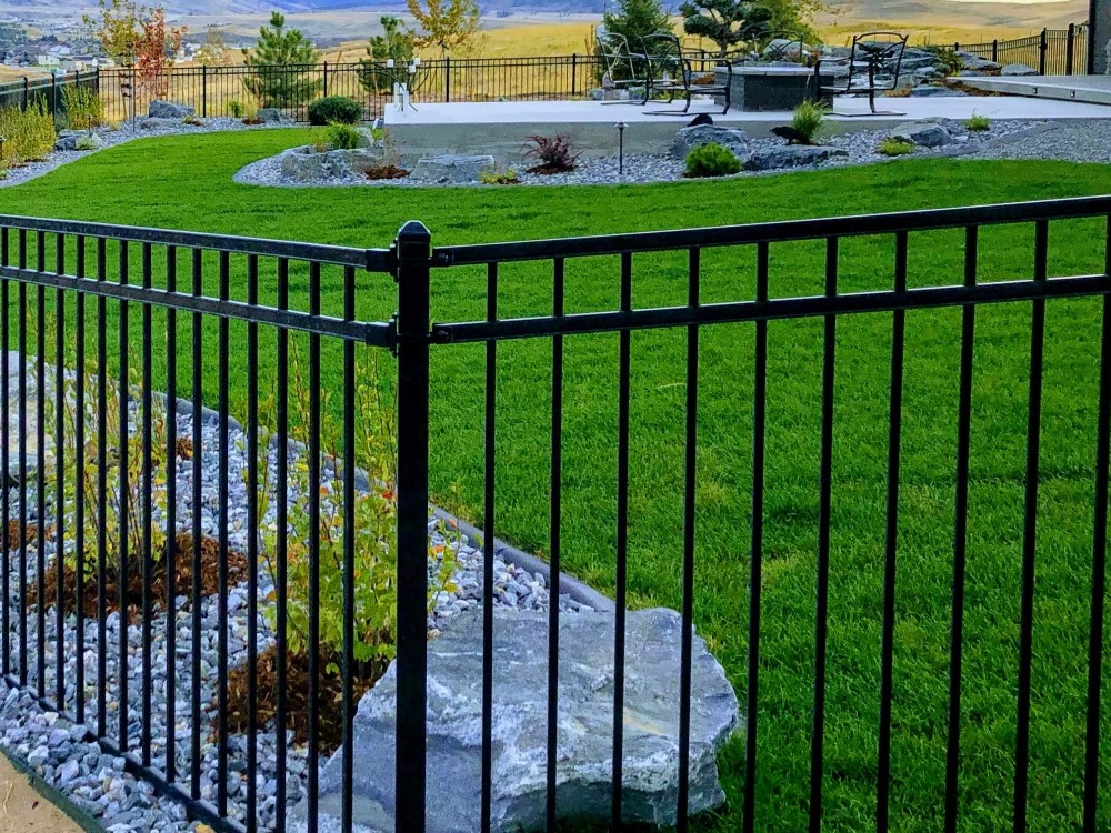
[[[964,285],[977,283],[979,229],[964,231]],[[964,651],[964,574],[969,522],[969,445],[972,422],[972,357],[975,307],[961,310],[961,371],[957,404],[957,483],[953,510],[952,626],[949,645],[949,741],[945,747],[945,833],[957,833],[960,809],[961,675]]]

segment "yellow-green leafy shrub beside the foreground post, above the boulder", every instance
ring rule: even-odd
[[[310,412],[310,392],[304,369],[298,355],[296,342],[291,344],[290,395],[291,410]],[[357,662],[369,663],[390,660],[394,653],[397,634],[397,415],[392,402],[382,393],[377,353],[362,351],[357,357],[356,391],[356,458],[360,473],[366,475],[370,488],[357,491],[354,499],[354,645]],[[344,623],[344,540],[346,513],[349,508],[341,500],[343,494],[343,465],[353,461],[342,459],[342,423],[332,419],[331,390],[320,392],[320,483],[319,489],[310,480],[309,458],[300,452],[290,455],[288,518],[289,535],[286,546],[287,559],[287,624],[288,645],[291,654],[304,654],[308,650],[309,633],[309,581],[313,564],[310,561],[309,541],[312,530],[309,524],[310,494],[316,493],[320,502],[319,524],[316,530],[319,540],[320,602],[317,606],[320,623],[320,641],[326,670],[338,671],[338,661],[343,651]],[[272,409],[268,409],[271,410]],[[268,418],[268,421],[269,418]],[[271,422],[272,424],[272,422]],[[269,472],[266,460],[273,434],[266,430],[259,438],[259,471]],[[293,445],[306,449],[309,434],[304,425],[291,428]],[[269,475],[268,475],[269,476]],[[268,516],[268,506],[277,500],[273,484],[263,484],[260,491],[259,516]],[[271,512],[270,515],[274,516]],[[263,524],[262,564],[277,584],[278,579],[278,528],[274,521]],[[429,610],[440,590],[450,590],[448,583],[454,568],[453,542],[430,546],[430,566],[434,565],[429,582]],[[263,609],[270,626],[277,626],[277,608],[268,604]]]

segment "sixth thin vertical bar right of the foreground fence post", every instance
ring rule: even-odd
[[[838,238],[825,241],[825,297],[837,297]],[[825,743],[825,653],[829,638],[830,520],[833,488],[833,383],[837,315],[825,315],[822,345],[822,446],[818,509],[818,581],[814,611],[814,716],[810,744],[810,831],[822,827],[822,772]]]

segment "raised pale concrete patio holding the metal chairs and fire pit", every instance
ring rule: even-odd
[[[970,79],[972,80],[972,79]],[[1043,79],[1034,79],[1043,80]],[[1111,103],[1111,87],[1109,103]],[[532,133],[564,133],[585,155],[608,155],[617,150],[618,122],[624,122],[627,153],[655,153],[698,113],[710,113],[714,123],[743,128],[762,138],[771,129],[790,124],[790,112],[743,112],[721,108],[712,101],[691,104],[685,116],[660,114],[660,110],[682,109],[682,102],[647,107],[599,101],[497,101],[451,104],[418,104],[403,112],[387,108],[384,122],[407,154],[489,153],[499,160],[520,155],[526,137]],[[925,119],[965,120],[973,114],[992,120],[1061,121],[1111,119],[1111,107],[1050,98],[1010,96],[882,98],[877,107],[899,114],[872,116],[864,98],[838,98],[829,120],[833,132],[879,130]]]

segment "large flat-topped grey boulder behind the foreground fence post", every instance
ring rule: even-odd
[[[544,826],[548,731],[547,613],[499,609],[493,650],[491,830]],[[557,813],[609,821],[613,736],[613,614],[560,619]],[[682,623],[669,610],[630,612],[625,630],[623,806],[630,824],[674,825],[679,790]],[[695,814],[720,805],[717,754],[738,723],[737,697],[694,639],[690,797]],[[354,822],[393,831],[396,665],[354,717]],[[482,619],[464,614],[428,645],[429,833],[481,829]],[[320,830],[339,830],[342,752],[320,776]],[[304,830],[307,809],[291,830]]]

